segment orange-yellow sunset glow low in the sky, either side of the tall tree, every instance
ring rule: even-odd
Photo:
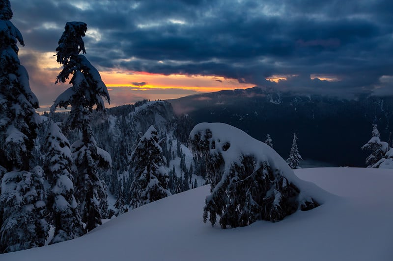
[[[21,49],[20,56],[22,62],[26,52]],[[33,52],[40,62],[34,65],[39,73],[31,73],[31,88],[34,92],[42,93],[36,90],[47,86],[44,92],[49,96],[49,100],[54,100],[65,88],[66,84],[57,84],[54,82],[58,72],[61,70],[56,62],[54,52]],[[88,55],[86,55],[88,57]],[[105,71],[99,70],[102,80],[108,87],[111,95],[111,104],[113,107],[121,104],[134,103],[141,99],[174,99],[197,93],[217,92],[221,90],[246,89],[253,87],[253,84],[239,83],[236,79],[228,79],[221,76],[209,75],[184,75],[184,74],[158,74],[146,71]],[[33,84],[38,82],[38,84]],[[38,95],[38,98],[42,98]],[[41,104],[42,107],[50,107],[51,104]]]

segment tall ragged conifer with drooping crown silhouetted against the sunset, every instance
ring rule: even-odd
[[[54,112],[56,107],[71,106],[66,126],[81,133],[81,139],[71,145],[71,152],[78,168],[75,195],[79,212],[86,223],[86,230],[90,231],[101,224],[100,202],[107,201],[98,167],[108,168],[112,160],[109,153],[97,146],[90,126],[93,108],[104,110],[103,98],[109,102],[110,97],[97,69],[84,55],[79,54],[81,51],[85,53],[82,37],[86,31],[87,25],[82,22],[65,25],[56,48],[57,62],[63,65],[56,83],[65,82],[72,75],[72,87],[57,97],[51,111]]]

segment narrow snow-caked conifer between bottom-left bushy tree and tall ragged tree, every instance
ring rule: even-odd
[[[84,234],[81,216],[74,197],[74,177],[76,169],[72,160],[70,144],[59,127],[53,123],[46,138],[46,161],[44,164],[50,184],[48,209],[55,226],[51,243],[80,237]]]

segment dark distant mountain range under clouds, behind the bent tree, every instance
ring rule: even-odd
[[[283,158],[296,132],[304,159],[336,166],[365,166],[369,152],[361,146],[371,137],[371,124],[378,124],[382,141],[388,142],[393,130],[393,97],[363,95],[348,100],[253,87],[168,101],[175,113],[188,114],[195,123],[224,122],[262,142],[270,134]]]

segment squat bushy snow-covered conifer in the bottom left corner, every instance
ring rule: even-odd
[[[45,220],[44,172],[36,166],[31,171],[14,170],[4,174],[0,205],[2,226],[0,253],[43,246],[49,226]]]

